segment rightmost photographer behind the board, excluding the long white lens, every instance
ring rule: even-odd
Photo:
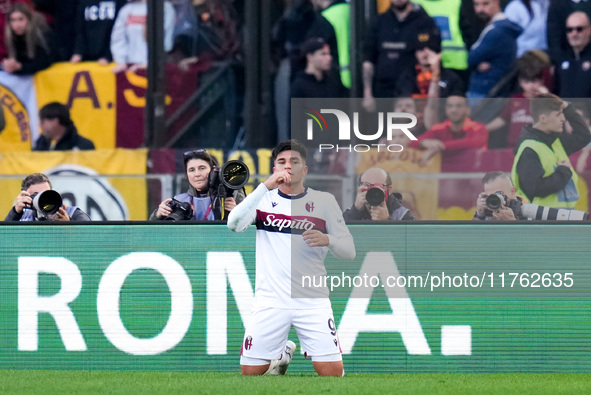
[[[518,211],[514,212],[512,207],[519,202],[521,198],[516,195],[516,189],[513,186],[511,177],[502,171],[492,171],[486,173],[482,178],[484,192],[478,195],[476,199],[475,220],[484,221],[487,219],[497,221],[515,221],[517,219],[526,219]]]

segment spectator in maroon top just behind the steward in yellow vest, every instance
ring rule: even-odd
[[[533,61],[534,58],[542,61]],[[544,85],[544,68],[540,67],[541,64],[550,64],[550,58],[543,51],[526,52],[517,61],[517,80],[521,92],[514,94],[501,114],[486,124],[489,131],[489,149],[514,148],[523,128],[533,123],[534,120],[529,111],[529,99],[541,93],[548,93]]]

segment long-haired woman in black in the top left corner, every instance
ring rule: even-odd
[[[4,32],[8,57],[0,64],[11,74],[35,74],[51,65],[54,40],[45,19],[25,3],[16,3],[6,15]]]

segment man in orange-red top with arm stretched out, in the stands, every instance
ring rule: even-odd
[[[470,106],[463,96],[450,96],[445,102],[447,119],[433,125],[417,141],[412,141],[411,148],[425,150],[421,164],[425,165],[440,152],[454,152],[468,148],[487,147],[488,130],[481,123],[472,121]]]

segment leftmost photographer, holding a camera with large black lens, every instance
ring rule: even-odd
[[[21,192],[4,221],[90,221],[77,206],[66,207],[51,181],[42,173],[33,173],[21,183]]]

